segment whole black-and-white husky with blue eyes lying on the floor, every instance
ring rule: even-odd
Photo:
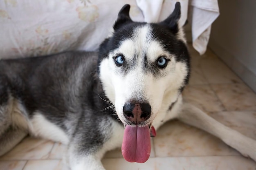
[[[180,3],[157,24],[133,22],[129,10],[99,53],[0,61],[0,155],[30,134],[67,144],[72,170],[104,170],[104,153],[120,146],[127,161],[144,163],[150,134],[177,118],[256,160],[256,141],[182,103],[190,64]]]

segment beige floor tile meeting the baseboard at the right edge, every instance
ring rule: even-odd
[[[256,94],[245,84],[213,84],[211,87],[227,111],[256,110]]]

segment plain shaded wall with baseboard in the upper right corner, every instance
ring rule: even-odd
[[[256,0],[219,0],[209,46],[256,91]]]

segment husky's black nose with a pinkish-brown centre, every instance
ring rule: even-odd
[[[124,117],[138,124],[146,121],[151,115],[151,106],[148,103],[126,102],[123,107]]]

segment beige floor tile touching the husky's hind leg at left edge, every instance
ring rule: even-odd
[[[54,142],[27,137],[0,160],[46,159]]]

